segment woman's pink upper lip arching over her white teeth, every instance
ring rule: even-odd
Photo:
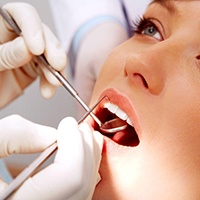
[[[108,97],[109,101],[112,104],[117,105],[122,111],[124,111],[128,115],[131,124],[134,126],[137,137],[139,138],[141,129],[138,123],[138,117],[136,116],[135,109],[131,104],[130,100],[128,99],[128,97],[126,97],[125,94],[113,88],[104,90],[99,96],[99,99],[103,98],[104,96]],[[97,117],[100,117],[98,114],[103,112],[104,104],[105,103],[100,104],[95,109],[94,113],[95,115],[97,115]]]

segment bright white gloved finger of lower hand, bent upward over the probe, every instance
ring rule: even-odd
[[[69,199],[84,184],[84,147],[77,122],[63,119],[58,132],[54,163],[25,181],[13,199]]]

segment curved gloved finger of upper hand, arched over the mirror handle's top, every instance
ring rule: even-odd
[[[7,3],[3,6],[3,9],[8,11],[18,24],[28,49],[35,55],[42,54],[45,49],[43,26],[35,8],[30,4],[18,2],[16,4]],[[7,25],[6,29],[9,34],[12,29],[8,27]]]

